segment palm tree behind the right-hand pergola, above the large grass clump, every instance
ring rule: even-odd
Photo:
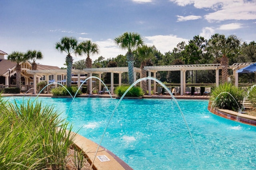
[[[239,39],[236,35],[230,35],[225,38],[225,35],[214,34],[208,42],[208,50],[214,55],[214,57],[220,58],[220,64],[222,67],[222,83],[228,81],[228,66],[229,59],[228,55],[235,53],[241,43],[241,39]]]

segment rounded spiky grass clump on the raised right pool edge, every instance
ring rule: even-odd
[[[245,92],[230,83],[224,83],[219,87],[214,88],[210,95],[210,101],[212,102],[213,107],[241,111],[240,109],[242,109]]]

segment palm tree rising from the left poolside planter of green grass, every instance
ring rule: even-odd
[[[66,65],[67,65],[67,87],[71,86],[71,72],[73,57],[72,53],[75,55],[81,55],[80,48],[78,46],[78,41],[74,37],[62,37],[60,42],[55,43],[55,48],[61,53],[65,52],[66,56]]]

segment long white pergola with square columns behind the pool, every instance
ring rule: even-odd
[[[248,66],[252,63],[234,63],[229,66],[229,69],[233,70],[233,75],[235,77],[235,86],[238,86],[238,73],[236,70]],[[153,77],[156,78],[156,72],[158,71],[180,71],[180,95],[184,95],[184,91],[186,88],[186,71],[187,70],[216,70],[216,86],[219,86],[219,70],[222,69],[223,66],[220,64],[186,64],[186,65],[168,65],[168,66],[144,66],[144,69],[148,71],[148,75],[151,76],[153,72]],[[140,68],[134,67],[133,69],[134,75],[136,73],[141,73]],[[52,75],[57,77],[57,75],[64,74],[66,75],[66,69],[64,70],[27,70],[29,74],[34,75],[34,94],[36,94],[36,78],[41,75]],[[101,79],[101,74],[104,72],[110,72],[110,92],[114,94],[114,73],[119,74],[119,86],[121,86],[121,74],[123,72],[128,72],[128,67],[106,67],[106,68],[84,68],[84,70],[72,69],[73,74],[78,75],[78,87],[80,86],[80,75],[81,74],[89,74],[87,77],[92,76],[92,74],[98,74]],[[48,76],[46,76],[46,81],[48,82]],[[134,76],[134,82],[136,81],[136,76]],[[55,84],[57,86],[58,84]],[[99,88],[101,90],[101,82],[99,81]],[[156,91],[156,82],[154,82],[154,91]],[[92,92],[92,81],[90,81],[90,92]],[[148,95],[151,95],[151,81],[148,81]]]

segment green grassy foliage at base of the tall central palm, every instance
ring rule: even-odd
[[[126,92],[126,90],[129,88],[130,86],[118,86],[115,90],[115,94],[118,96],[123,96],[123,94]],[[139,96],[143,96],[143,90],[140,87],[132,87],[127,93],[126,93],[126,97],[139,97]]]

